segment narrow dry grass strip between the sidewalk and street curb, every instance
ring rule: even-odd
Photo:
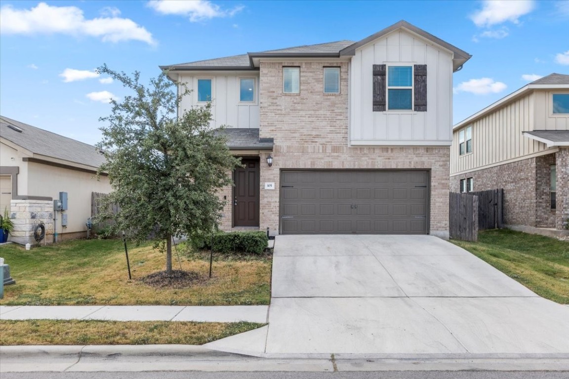
[[[1,320],[0,345],[203,345],[263,325],[250,322]]]

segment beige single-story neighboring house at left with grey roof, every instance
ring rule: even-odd
[[[94,177],[103,162],[92,145],[0,116],[0,209],[7,207],[15,224],[9,240],[34,243],[39,221],[47,243],[54,232],[58,240],[86,236],[91,193],[111,191],[106,176]],[[55,212],[60,192],[67,193],[67,210]]]

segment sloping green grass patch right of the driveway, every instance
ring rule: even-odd
[[[478,242],[451,241],[541,297],[569,304],[569,242],[509,229],[480,231]]]

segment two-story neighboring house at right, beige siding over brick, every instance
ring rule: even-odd
[[[531,82],[453,128],[451,191],[504,189],[513,228],[564,228],[568,171],[569,75]]]

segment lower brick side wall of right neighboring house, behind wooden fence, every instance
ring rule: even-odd
[[[535,158],[475,170],[451,177],[451,191],[473,178],[473,190],[504,189],[504,223],[535,227]]]

